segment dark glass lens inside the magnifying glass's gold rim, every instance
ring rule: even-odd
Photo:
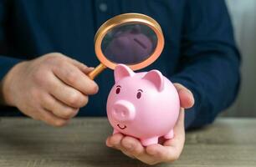
[[[151,57],[156,44],[156,33],[150,27],[130,23],[110,29],[102,40],[101,50],[113,63],[136,64]]]

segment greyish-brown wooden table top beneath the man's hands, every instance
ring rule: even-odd
[[[107,148],[105,138],[111,131],[105,118],[74,119],[64,128],[2,118],[0,166],[147,166]],[[256,119],[218,119],[186,138],[181,158],[159,166],[256,166]]]

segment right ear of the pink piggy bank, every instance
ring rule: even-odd
[[[151,70],[150,72],[146,73],[142,79],[146,79],[153,83],[156,86],[156,89],[160,92],[164,88],[164,78],[161,72],[158,70]]]

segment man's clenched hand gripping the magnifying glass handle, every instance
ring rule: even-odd
[[[91,70],[61,53],[18,63],[3,78],[3,99],[33,119],[62,126],[97,93],[98,85],[86,75]]]

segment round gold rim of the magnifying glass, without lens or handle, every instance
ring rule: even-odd
[[[141,63],[135,64],[126,64],[133,70],[138,70],[145,68],[151,63],[155,62],[156,59],[160,56],[162,49],[164,48],[164,37],[161,31],[161,26],[153,18],[146,16],[141,13],[125,13],[110,18],[105,23],[103,23],[95,34],[95,53],[97,58],[100,60],[100,63],[103,63],[106,67],[115,69],[117,63],[111,62],[108,58],[105,58],[104,53],[101,50],[101,43],[106,33],[109,33],[112,28],[118,27],[122,24],[133,24],[140,23],[150,27],[155,33],[157,38],[156,48],[151,56],[146,58]]]

